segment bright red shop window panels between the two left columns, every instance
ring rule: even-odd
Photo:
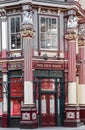
[[[11,116],[20,116],[21,101],[23,100],[23,84],[20,78],[10,79]]]

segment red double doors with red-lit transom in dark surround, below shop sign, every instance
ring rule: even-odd
[[[63,78],[37,78],[35,86],[39,126],[63,126],[65,100]]]

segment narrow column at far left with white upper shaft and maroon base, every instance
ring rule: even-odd
[[[4,9],[1,10],[2,20],[2,87],[3,87],[3,106],[2,106],[2,127],[8,127],[8,99],[7,99],[7,17]]]

